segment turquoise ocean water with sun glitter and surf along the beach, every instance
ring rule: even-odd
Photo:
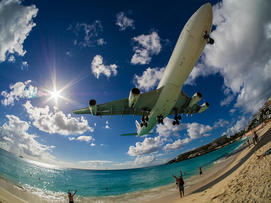
[[[77,189],[76,202],[139,202],[177,191],[171,174],[180,175],[180,170],[186,173],[183,175],[185,188],[211,176],[227,165],[244,144],[246,138],[178,163],[123,170],[53,166],[19,158],[0,149],[0,176],[15,187],[54,201],[66,202],[68,189],[71,192]],[[199,166],[203,166],[203,176],[199,176]]]

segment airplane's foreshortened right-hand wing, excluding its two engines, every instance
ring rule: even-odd
[[[188,104],[191,100],[191,97],[189,97],[185,92],[181,91],[179,98],[174,106],[174,108],[177,109],[178,114],[191,114],[198,113],[200,110],[200,106],[198,104],[195,104],[192,107],[189,107]],[[209,104],[208,104],[209,105]],[[174,115],[175,112],[172,109],[172,111],[169,113],[170,115]]]

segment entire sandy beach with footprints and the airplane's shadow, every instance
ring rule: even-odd
[[[234,159],[206,180],[185,186],[180,198],[176,189],[171,195],[156,197],[147,202],[271,202],[271,155],[261,155],[271,147],[271,124],[258,130],[259,143],[240,148]],[[203,172],[204,175],[204,172]],[[184,179],[185,181],[185,179]],[[174,184],[174,183],[172,183]],[[27,193],[0,180],[0,202],[52,202]]]

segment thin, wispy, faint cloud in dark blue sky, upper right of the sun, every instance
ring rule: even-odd
[[[77,39],[74,41],[74,44],[79,44],[84,47],[93,46],[94,42],[96,41],[98,44],[101,42],[101,40],[104,42],[102,38],[97,39],[100,33],[102,33],[103,26],[101,21],[94,21],[91,24],[87,23],[77,23],[75,28],[70,25],[68,30],[73,30],[73,32],[77,35]],[[81,32],[83,31],[84,40],[81,40]],[[105,42],[104,42],[105,43]],[[99,44],[101,45],[101,44]]]

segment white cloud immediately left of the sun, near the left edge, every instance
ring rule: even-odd
[[[38,88],[30,85],[31,80],[23,82],[17,82],[14,85],[10,84],[10,92],[2,91],[1,95],[5,98],[1,100],[4,106],[14,105],[14,100],[19,100],[19,98],[33,98],[37,96]]]

